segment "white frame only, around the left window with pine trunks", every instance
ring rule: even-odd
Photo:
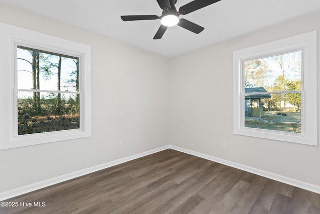
[[[1,23],[0,32],[1,34],[3,32],[3,34],[0,36],[0,57],[3,59],[2,63],[0,64],[0,69],[2,71],[1,73],[4,73],[4,79],[1,80],[0,90],[2,93],[8,92],[5,94],[5,97],[9,95],[6,102],[7,105],[4,106],[3,104],[5,103],[3,103],[0,107],[0,111],[8,112],[8,116],[5,116],[6,120],[0,121],[0,149],[91,136],[90,47]],[[17,46],[29,47],[79,58],[79,129],[17,135]]]

